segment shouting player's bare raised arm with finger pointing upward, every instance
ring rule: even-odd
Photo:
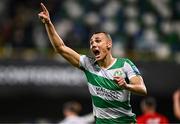
[[[43,5],[43,3],[41,3],[41,8],[42,8],[42,12],[40,12],[38,16],[41,19],[41,21],[45,24],[48,37],[55,51],[60,55],[62,55],[73,66],[79,68],[80,55],[64,44],[63,40],[56,32],[56,29],[51,22],[49,12],[46,9],[46,7]]]

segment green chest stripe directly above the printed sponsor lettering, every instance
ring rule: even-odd
[[[114,80],[107,79],[102,76],[98,76],[87,70],[84,70],[84,72],[86,74],[88,82],[91,83],[92,85],[103,87],[105,89],[114,90],[114,91],[123,90],[121,87],[118,86],[118,84]]]

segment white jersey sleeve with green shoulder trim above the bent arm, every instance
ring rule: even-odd
[[[123,67],[128,79],[134,76],[141,75],[138,68],[129,60],[126,59]]]

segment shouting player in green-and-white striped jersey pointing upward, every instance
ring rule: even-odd
[[[41,7],[39,18],[45,24],[54,49],[86,75],[96,124],[135,123],[130,92],[147,94],[136,66],[129,59],[112,56],[112,40],[105,32],[94,33],[90,38],[94,59],[78,54],[65,45],[50,20],[48,10],[42,3]]]

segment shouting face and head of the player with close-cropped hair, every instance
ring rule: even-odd
[[[90,50],[96,61],[103,60],[112,47],[111,38],[105,33],[96,33],[90,39]]]

